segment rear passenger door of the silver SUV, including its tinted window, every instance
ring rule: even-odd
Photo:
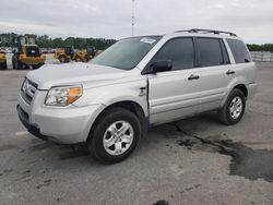
[[[203,112],[221,107],[234,73],[230,70],[230,60],[222,38],[198,37],[195,40],[201,87],[198,112]]]

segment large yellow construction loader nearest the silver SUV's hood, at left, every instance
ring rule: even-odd
[[[40,53],[39,47],[35,45],[34,35],[19,36],[15,39],[17,48],[13,51],[12,67],[14,70],[38,69],[45,64],[46,56]]]

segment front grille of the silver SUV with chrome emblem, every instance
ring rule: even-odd
[[[38,86],[36,83],[33,83],[32,81],[25,79],[21,88],[21,96],[28,105],[32,104],[32,100],[35,96],[37,88]]]

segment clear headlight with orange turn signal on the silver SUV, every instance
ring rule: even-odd
[[[45,104],[47,106],[69,106],[82,96],[82,86],[52,87]]]

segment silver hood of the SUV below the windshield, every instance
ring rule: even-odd
[[[26,77],[38,85],[39,89],[52,86],[82,84],[106,84],[119,80],[128,71],[92,63],[46,64],[28,72]]]

